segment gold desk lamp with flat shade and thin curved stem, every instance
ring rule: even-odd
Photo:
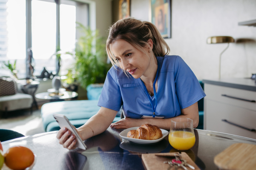
[[[219,60],[219,79],[221,79],[221,55],[224,53],[224,51],[227,50],[227,48],[229,47],[229,43],[230,42],[235,42],[233,37],[218,36],[218,37],[209,37],[209,38],[207,38],[207,44],[227,43],[227,47],[220,54],[220,60]]]

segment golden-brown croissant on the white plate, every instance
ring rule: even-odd
[[[145,124],[141,125],[137,130],[130,130],[127,133],[128,138],[145,139],[145,140],[156,140],[163,137],[162,131],[159,127]]]

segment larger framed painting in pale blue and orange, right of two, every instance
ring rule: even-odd
[[[149,0],[149,21],[163,38],[172,37],[172,0]]]

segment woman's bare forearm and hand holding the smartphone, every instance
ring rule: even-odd
[[[116,113],[117,111],[101,107],[96,115],[92,116],[84,125],[76,129],[77,133],[84,141],[92,136],[104,132],[113,122]],[[76,148],[76,137],[71,134],[70,130],[67,130],[66,127],[62,127],[58,131],[56,137],[63,147],[67,149]]]

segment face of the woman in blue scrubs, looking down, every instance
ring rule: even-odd
[[[140,78],[148,72],[150,66],[149,53],[143,53],[125,40],[113,42],[110,45],[110,49],[116,61],[119,62],[120,67],[128,71],[135,79]],[[148,52],[148,48],[144,49]]]

